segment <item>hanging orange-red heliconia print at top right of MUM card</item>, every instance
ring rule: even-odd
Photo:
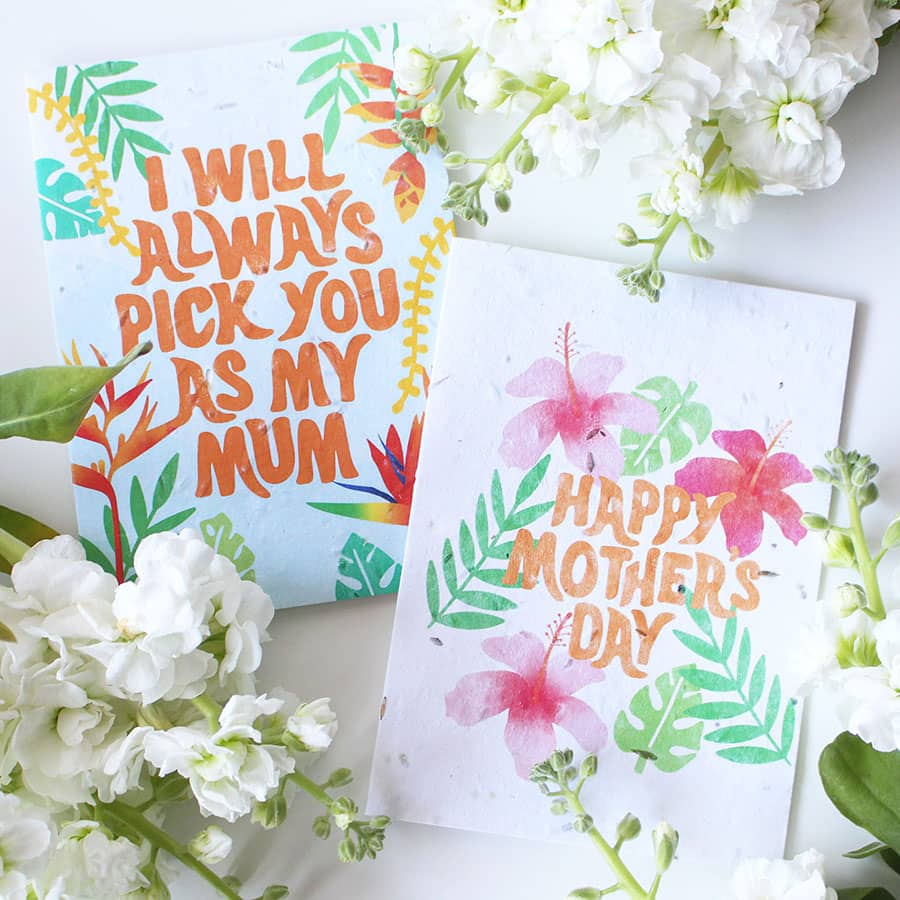
[[[393,94],[389,100],[366,100],[345,110],[347,115],[359,116],[365,122],[379,127],[361,137],[360,143],[372,144],[385,150],[401,150],[400,155],[388,166],[384,183],[394,185],[394,207],[401,222],[407,222],[417,212],[422,198],[425,196],[425,167],[416,158],[416,154],[406,147],[400,135],[391,127],[404,119],[419,119],[422,110],[415,109],[401,112],[397,109],[397,98],[403,96],[394,84],[394,73],[384,66],[371,63],[353,63],[345,66],[366,85],[375,91],[390,90]],[[437,129],[426,128],[425,140],[429,144],[437,141]]]

